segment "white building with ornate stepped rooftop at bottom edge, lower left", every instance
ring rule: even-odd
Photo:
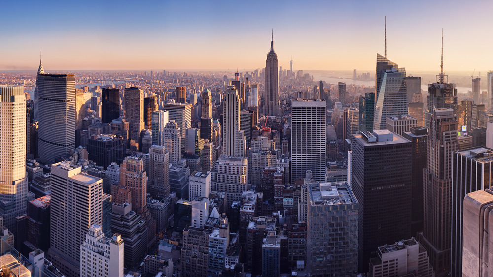
[[[122,277],[123,239],[106,238],[101,226],[93,225],[80,246],[80,276]]]

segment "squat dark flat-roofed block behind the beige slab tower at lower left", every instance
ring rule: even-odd
[[[89,160],[107,168],[112,162],[120,164],[125,158],[123,138],[116,135],[101,134],[89,138],[87,141]]]

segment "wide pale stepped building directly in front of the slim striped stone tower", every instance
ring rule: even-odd
[[[241,157],[221,156],[211,172],[211,190],[226,193],[228,206],[240,201],[248,188],[248,160]]]

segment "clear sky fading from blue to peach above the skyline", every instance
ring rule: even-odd
[[[493,1],[1,1],[0,70],[493,69]]]

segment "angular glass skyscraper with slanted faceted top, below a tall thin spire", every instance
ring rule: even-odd
[[[376,101],[373,129],[386,128],[387,116],[407,115],[406,69],[377,54]]]

